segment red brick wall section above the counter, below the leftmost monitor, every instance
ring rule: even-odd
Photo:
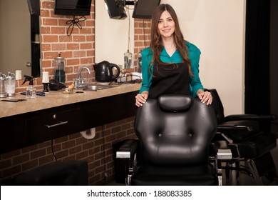
[[[54,78],[53,59],[58,52],[66,59],[66,84],[77,78],[80,66],[88,66],[93,70],[95,61],[95,6],[92,1],[91,15],[86,21],[80,21],[82,29],[74,26],[71,36],[67,36],[68,24],[72,16],[53,14],[54,0],[41,0],[41,69],[49,72],[49,79]],[[70,31],[69,31],[70,32]],[[93,73],[92,73],[93,75]],[[36,89],[43,89],[41,78],[34,81]],[[16,82],[16,92],[25,91],[28,83],[21,86]]]

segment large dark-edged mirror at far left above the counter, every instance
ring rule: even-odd
[[[0,72],[40,76],[39,16],[27,1],[0,0],[0,27]]]

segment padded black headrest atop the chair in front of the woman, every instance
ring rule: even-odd
[[[158,97],[161,110],[167,112],[181,112],[190,109],[192,97],[183,94],[163,94]]]

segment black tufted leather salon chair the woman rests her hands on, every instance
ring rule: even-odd
[[[127,184],[221,184],[221,172],[209,160],[217,129],[211,106],[185,95],[148,99],[138,108],[134,128],[138,141],[127,140],[116,153],[127,160]]]

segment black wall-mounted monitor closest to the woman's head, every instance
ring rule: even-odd
[[[152,19],[153,11],[160,0],[137,0],[134,6],[133,18]]]

